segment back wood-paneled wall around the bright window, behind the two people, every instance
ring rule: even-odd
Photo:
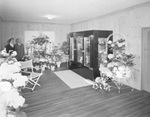
[[[67,34],[70,32],[70,25],[34,23],[34,22],[2,22],[2,47],[6,45],[10,37],[21,38],[24,42],[25,31],[54,31],[55,42],[61,43],[67,40]]]

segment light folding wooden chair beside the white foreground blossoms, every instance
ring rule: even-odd
[[[41,86],[38,83],[38,81],[43,74],[43,70],[41,70],[40,73],[34,72],[32,59],[27,61],[20,61],[20,63],[21,63],[22,74],[28,76],[28,82],[26,83],[26,86],[24,88],[31,89],[31,91],[33,91],[36,85]]]

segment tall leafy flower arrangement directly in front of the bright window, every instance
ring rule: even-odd
[[[33,59],[33,65],[37,69],[41,69],[43,65],[47,65],[49,63],[46,55],[46,47],[48,43],[49,37],[46,35],[34,37],[32,41],[26,44],[27,55],[24,59]]]

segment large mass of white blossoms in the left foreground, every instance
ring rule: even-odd
[[[15,58],[0,58],[0,61],[0,115],[8,117],[12,110],[25,103],[20,89],[26,85],[28,78],[21,75],[21,64]]]

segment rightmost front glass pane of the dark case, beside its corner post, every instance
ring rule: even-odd
[[[84,65],[90,67],[90,38],[84,38]]]

